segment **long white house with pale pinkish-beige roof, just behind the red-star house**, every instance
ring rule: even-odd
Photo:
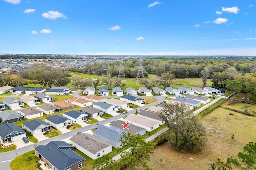
[[[132,123],[133,125],[145,128],[148,132],[151,132],[152,130],[155,130],[159,127],[159,123],[142,117],[138,117],[137,115],[133,114],[126,117],[125,121],[128,123]]]

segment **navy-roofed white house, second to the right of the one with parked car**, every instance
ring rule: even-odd
[[[60,127],[66,127],[68,125],[72,125],[72,120],[62,116],[62,115],[53,115],[50,117],[44,118],[44,121],[50,124],[55,129]]]

